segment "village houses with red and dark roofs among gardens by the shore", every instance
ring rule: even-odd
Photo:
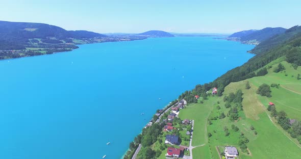
[[[211,94],[216,95],[217,88],[213,88]],[[195,95],[194,97],[196,99],[200,98],[198,95]],[[190,119],[181,120],[179,118],[180,111],[185,109],[186,106],[187,101],[182,99],[165,111],[158,110],[155,114],[158,117],[157,120],[154,121],[153,118],[144,127],[147,128],[152,126],[154,122],[165,123],[165,126],[162,129],[161,139],[158,140],[159,143],[155,143],[155,147],[160,147],[161,149],[164,147],[167,148],[165,153],[162,151],[167,159],[192,159],[192,149],[195,148],[191,145],[194,121]],[[239,158],[237,148],[233,146],[223,146],[222,154],[223,156],[220,156],[222,159]],[[135,156],[133,158],[135,158]]]

